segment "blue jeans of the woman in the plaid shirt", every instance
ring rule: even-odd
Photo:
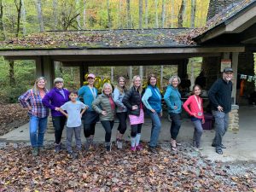
[[[38,118],[34,115],[30,115],[29,121],[29,133],[30,133],[30,142],[32,148],[43,147],[44,143],[44,133],[47,127],[47,117]]]

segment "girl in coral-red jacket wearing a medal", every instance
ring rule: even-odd
[[[201,86],[195,84],[192,90],[192,96],[189,96],[186,102],[183,104],[183,108],[191,116],[191,121],[195,126],[193,144],[196,150],[201,150],[201,134],[202,124],[205,123],[203,103],[201,94]]]

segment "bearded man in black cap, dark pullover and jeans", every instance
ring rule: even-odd
[[[217,154],[223,154],[222,138],[229,126],[229,113],[231,110],[231,93],[233,69],[224,68],[222,79],[218,79],[212,84],[208,92],[209,100],[212,104],[212,114],[215,118],[215,137],[212,147],[216,148]]]

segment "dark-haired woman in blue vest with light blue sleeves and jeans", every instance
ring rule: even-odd
[[[152,120],[151,136],[149,143],[149,151],[156,153],[157,140],[160,134],[161,122],[160,117],[162,116],[161,107],[161,94],[160,90],[156,86],[156,76],[150,74],[148,77],[148,87],[143,95],[143,104],[147,108],[146,112],[149,114]]]

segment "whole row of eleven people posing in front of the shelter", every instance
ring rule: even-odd
[[[216,136],[212,146],[216,152],[222,154],[222,137],[227,130],[228,113],[231,107],[232,69],[225,68],[223,78],[218,79],[209,90],[209,99],[212,102],[212,113],[215,117]],[[154,74],[148,77],[148,86],[143,91],[140,76],[134,76],[131,86],[125,84],[125,78],[119,77],[118,84],[113,90],[112,84],[105,83],[102,86],[102,94],[98,95],[94,87],[95,75],[90,73],[87,76],[88,85],[82,86],[79,91],[69,91],[63,87],[64,81],[61,78],[54,80],[55,87],[46,90],[46,79],[40,77],[36,80],[33,88],[27,90],[19,97],[19,102],[24,108],[28,108],[30,116],[30,141],[32,154],[38,155],[44,143],[44,133],[47,128],[47,117],[51,109],[52,121],[55,128],[55,152],[61,151],[62,131],[67,124],[67,154],[75,157],[72,148],[73,133],[76,140],[76,149],[81,151],[81,125],[84,128],[84,149],[89,150],[95,147],[94,135],[96,122],[101,121],[105,130],[105,148],[111,151],[112,129],[114,119],[119,119],[116,136],[117,148],[123,148],[123,135],[127,129],[126,121],[129,119],[131,125],[131,151],[142,150],[140,144],[141,132],[144,123],[144,113],[147,113],[152,120],[152,129],[148,149],[152,153],[157,152],[158,138],[161,130],[161,117],[163,114],[161,102],[162,96],[156,86],[157,78]],[[195,126],[193,144],[196,150],[201,148],[202,124],[204,123],[204,112],[201,98],[201,86],[195,84],[192,95],[186,102],[182,102],[178,91],[181,80],[176,75],[169,79],[169,85],[164,95],[168,107],[168,113],[172,119],[171,124],[171,148],[176,151],[177,135],[181,127],[182,108],[191,116]],[[144,92],[144,93],[143,93]],[[82,102],[79,101],[79,98]]]

